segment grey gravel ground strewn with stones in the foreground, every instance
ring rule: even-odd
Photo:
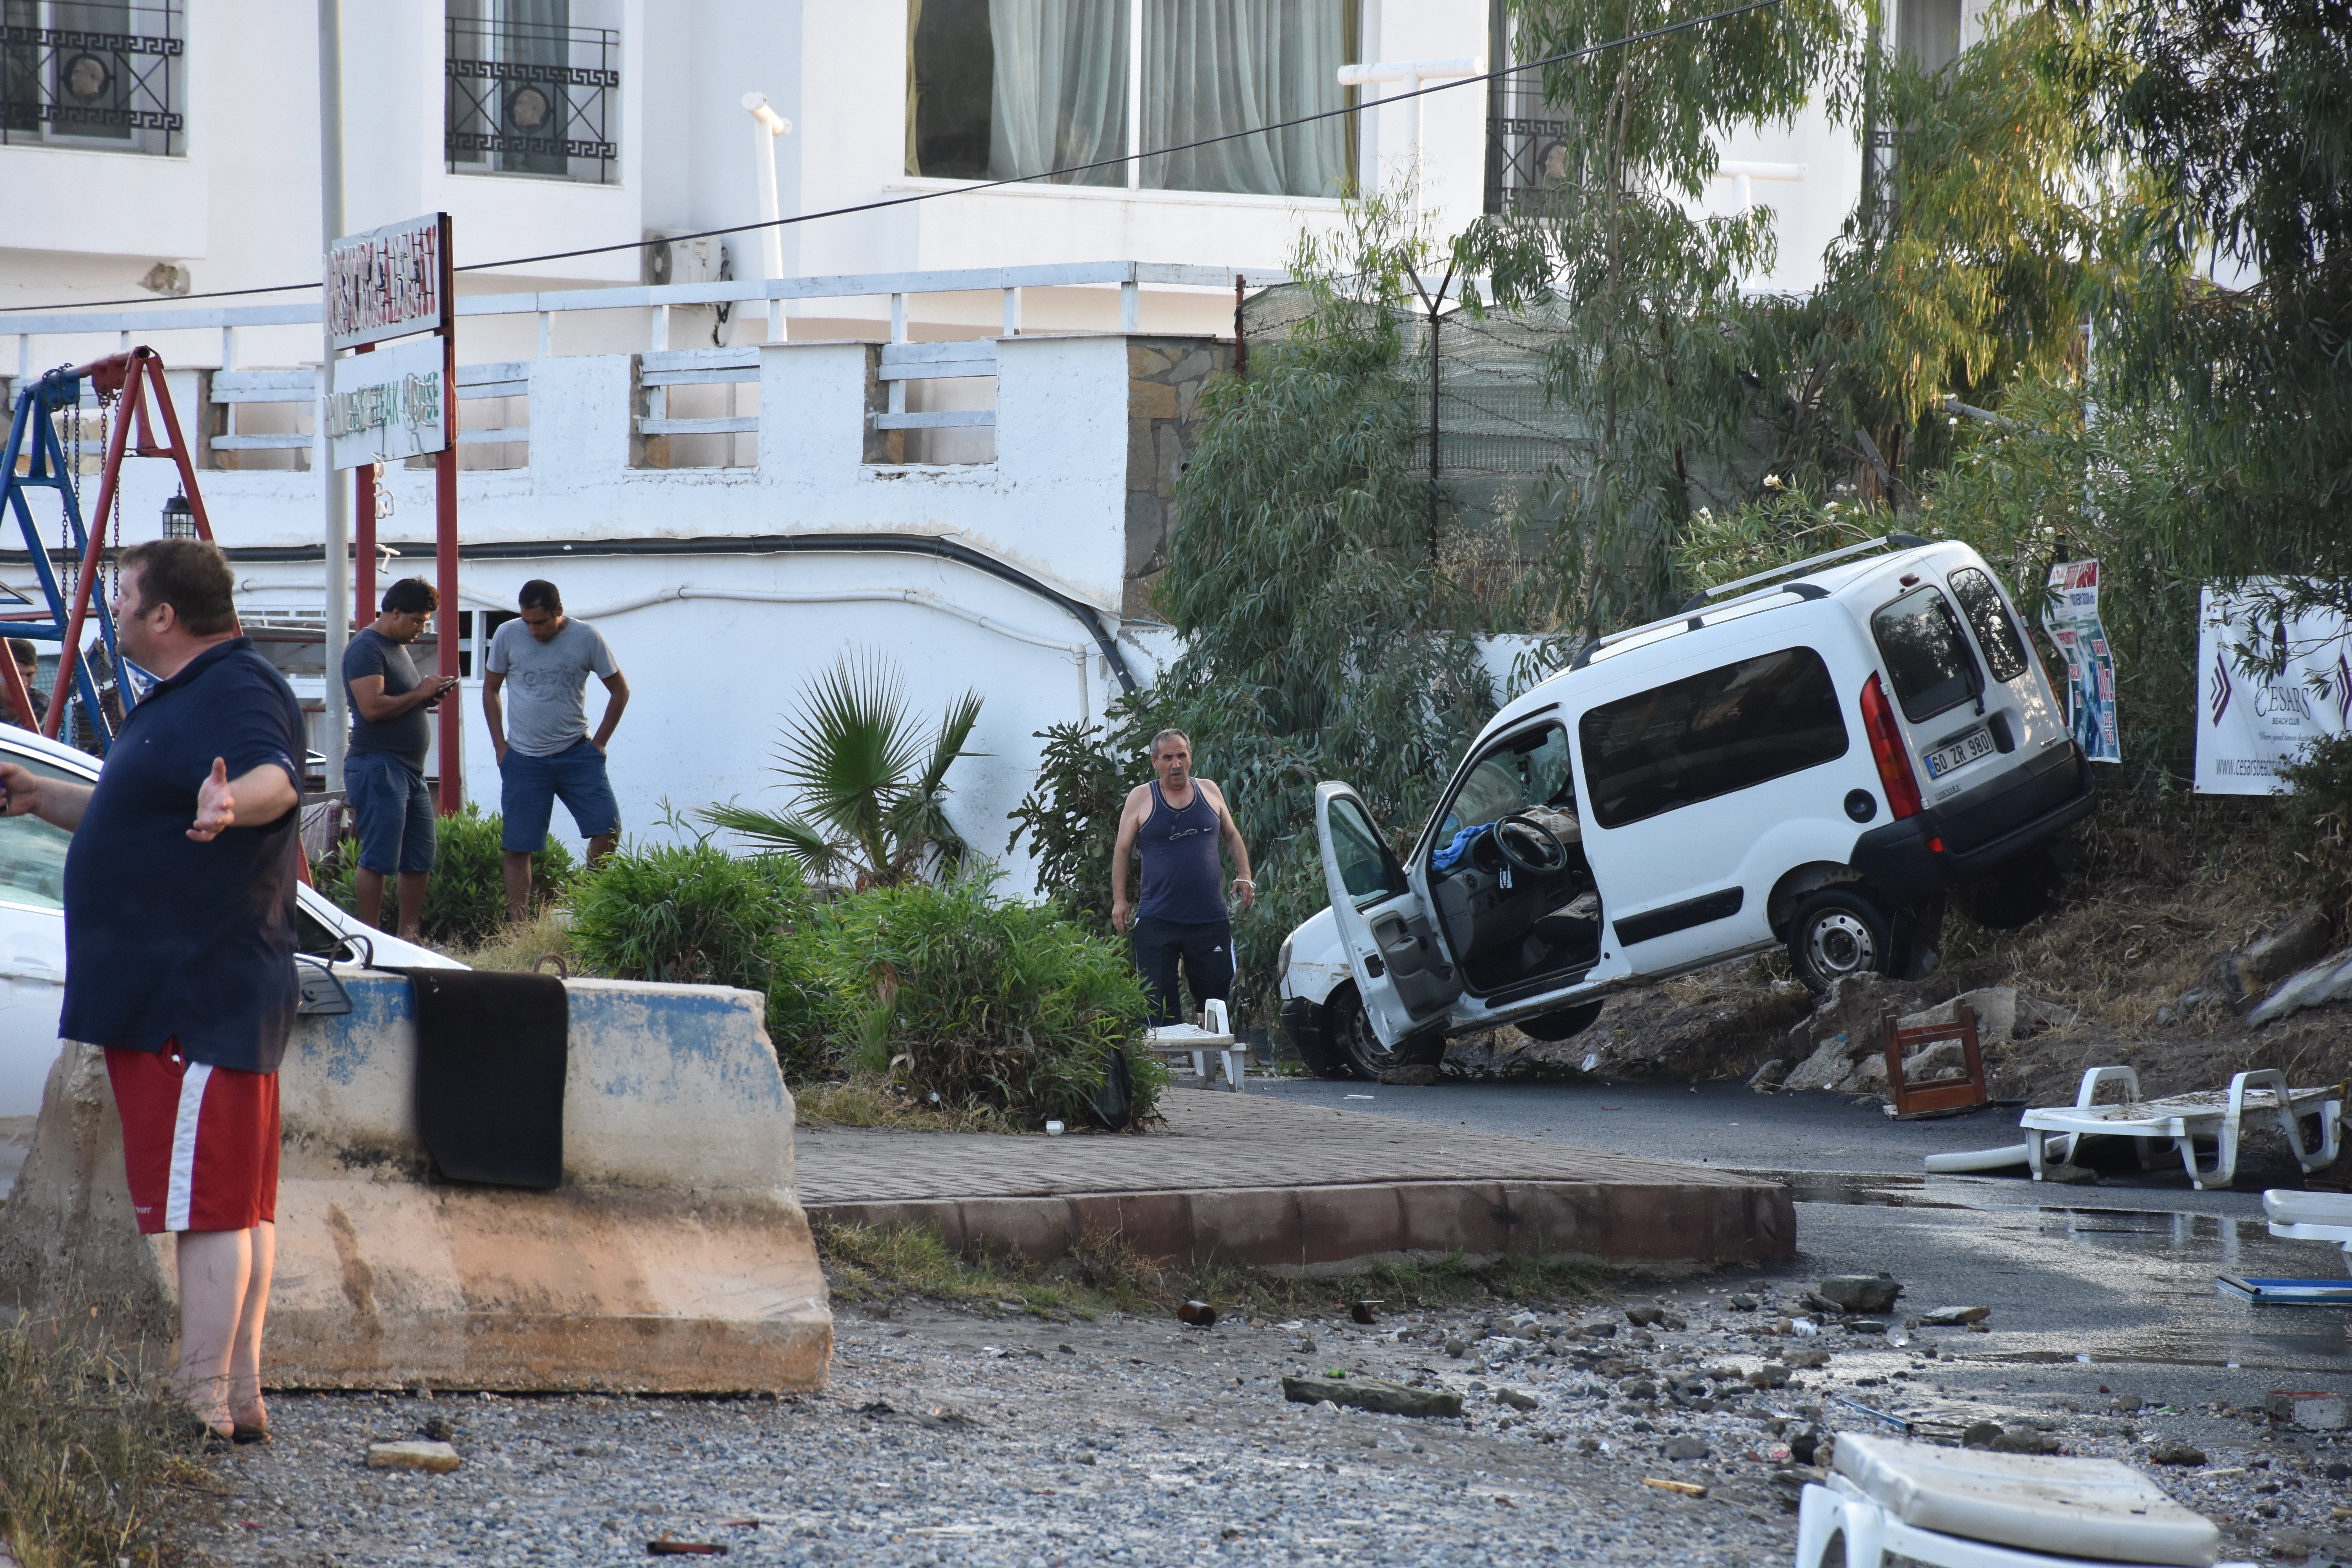
[[[2194,1443],[2204,1467],[2152,1474],[2232,1528],[2232,1556],[2352,1559],[2336,1439],[2223,1415],[2227,1368],[2122,1408],[2138,1396],[2098,1394],[2098,1366],[1997,1359],[1997,1324],[1856,1333],[1816,1312],[1823,1333],[1797,1333],[1806,1284],[1686,1281],[1649,1328],[1503,1302],[1211,1331],[901,1302],[840,1309],[816,1396],[280,1396],[278,1441],[223,1460],[235,1497],[186,1544],[256,1566],[637,1561],[666,1533],[793,1563],[1776,1563],[1797,1460],[1875,1403],[1945,1439],[2002,1422],[2140,1465]],[[1820,1349],[1783,1387],[1748,1382]],[[1465,1415],[1284,1403],[1284,1373],[1329,1368],[1458,1389]],[[428,1420],[454,1427],[459,1472],[365,1469],[367,1443]]]

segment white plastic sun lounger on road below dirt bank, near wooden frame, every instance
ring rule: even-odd
[[[2093,1105],[2100,1084],[2124,1084],[2122,1105]],[[2138,1138],[2140,1164],[2147,1164],[2150,1143],[2169,1138],[2180,1154],[2180,1166],[2190,1182],[2227,1187],[2237,1178],[2237,1145],[2246,1114],[2267,1114],[2286,1135],[2286,1147],[2296,1152],[2296,1164],[2317,1171],[2336,1159],[2343,1119],[2343,1088],[2288,1088],[2286,1074],[2277,1067],[2239,1072],[2230,1088],[2206,1088],[2161,1100],[2140,1098],[2140,1074],[2131,1067],[2093,1067],[2082,1074],[2082,1091],[2074,1105],[2037,1105],[2027,1110],[2018,1126],[2025,1128],[2025,1164],[2034,1180],[2042,1180],[2046,1164],[2044,1140],[2053,1133],[2070,1140],[2060,1159],[2072,1152],[2077,1138]],[[2298,1117],[2319,1117],[2319,1147],[2305,1150]],[[2197,1138],[2213,1138],[2213,1166],[2197,1164]]]

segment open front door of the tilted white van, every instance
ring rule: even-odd
[[[1461,976],[1430,931],[1428,910],[1364,802],[1343,783],[1315,785],[1331,919],[1348,947],[1364,1018],[1383,1046],[1442,1023],[1463,994]]]

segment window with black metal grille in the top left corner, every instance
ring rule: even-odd
[[[0,143],[186,150],[181,0],[5,0]]]

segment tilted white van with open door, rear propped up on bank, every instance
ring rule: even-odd
[[[1907,973],[1945,889],[2091,809],[2020,628],[1976,550],[1893,534],[1585,646],[1486,724],[1404,865],[1317,785],[1331,907],[1282,945],[1284,1032],[1378,1077],[1783,945],[1813,990]]]

